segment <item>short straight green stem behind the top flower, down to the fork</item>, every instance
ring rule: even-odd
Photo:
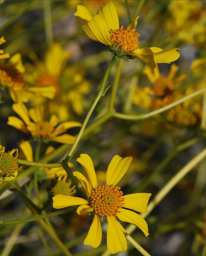
[[[110,97],[110,101],[109,101],[108,112],[113,112],[113,109],[114,109],[115,98],[116,98],[116,94],[117,94],[117,88],[118,88],[118,85],[120,82],[120,76],[121,76],[121,72],[122,72],[123,63],[124,63],[124,60],[120,59],[118,65],[117,65],[117,72],[115,75],[114,85],[112,87],[112,93],[111,93],[111,97]]]

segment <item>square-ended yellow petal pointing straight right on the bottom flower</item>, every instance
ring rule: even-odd
[[[138,212],[147,213],[147,204],[151,195],[151,193],[135,193],[124,195],[124,207],[133,209]]]

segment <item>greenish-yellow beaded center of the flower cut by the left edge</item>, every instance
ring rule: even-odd
[[[10,177],[18,169],[17,161],[13,155],[0,153],[0,177]]]

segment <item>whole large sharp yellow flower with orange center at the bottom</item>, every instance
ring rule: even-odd
[[[125,208],[146,213],[151,194],[135,193],[123,195],[120,187],[115,186],[127,171],[132,157],[114,156],[107,169],[106,185],[99,186],[97,185],[97,177],[90,156],[81,154],[76,161],[84,168],[87,178],[80,172],[73,172],[73,175],[81,182],[88,195],[88,200],[73,196],[55,195],[53,197],[53,207],[59,209],[79,205],[77,208],[78,214],[84,211],[93,212],[94,218],[84,244],[91,245],[94,248],[99,246],[102,239],[99,217],[103,218],[104,216],[108,223],[107,247],[110,253],[127,250],[127,240],[124,235],[126,231],[117,221],[117,218],[137,226],[144,232],[145,236],[148,236],[146,221],[139,214]]]

